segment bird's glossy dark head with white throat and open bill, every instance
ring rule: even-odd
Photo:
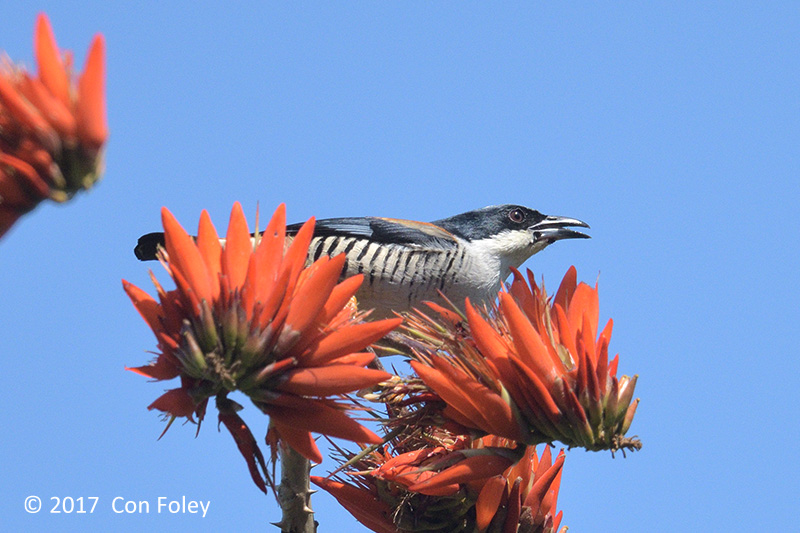
[[[570,229],[570,226],[588,228],[586,222],[544,215],[521,205],[492,205],[437,220],[434,224],[514,267],[556,241],[589,238]]]

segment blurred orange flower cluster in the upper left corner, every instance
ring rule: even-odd
[[[42,200],[64,202],[88,189],[108,137],[105,44],[92,40],[84,70],[60,52],[47,16],[36,21],[34,76],[0,60],[0,237]]]

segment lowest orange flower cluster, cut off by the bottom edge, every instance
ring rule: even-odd
[[[558,530],[563,452],[553,462],[549,448],[539,458],[533,447],[498,438],[436,444],[361,456],[348,463],[347,482],[342,474],[311,480],[380,533]]]

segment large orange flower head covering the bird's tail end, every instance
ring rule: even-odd
[[[285,208],[251,239],[237,203],[224,245],[203,211],[196,240],[162,210],[166,249],[162,263],[176,289],[153,277],[158,301],[123,281],[134,306],[153,330],[159,354],[131,370],[156,380],[180,378],[180,387],[150,405],[171,417],[203,419],[216,398],[220,422],[231,431],[262,490],[263,457],[227,398],[238,390],[270,417],[278,437],[304,457],[321,462],[311,433],[362,443],[381,442],[347,416],[343,395],[373,386],[390,374],[365,368],[371,343],[401,319],[363,322],[351,298],[362,277],[342,282],[344,257],[322,257],[304,268],[314,220],[289,242]],[[254,243],[255,241],[255,243]]]

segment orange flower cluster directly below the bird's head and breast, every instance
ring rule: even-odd
[[[433,306],[441,320],[409,319],[411,366],[428,388],[413,394],[425,416],[433,409],[451,430],[528,445],[638,449],[624,437],[639,402],[636,376],[617,377],[618,356],[608,358],[613,322],[598,331],[597,287],[577,284],[573,267],[551,300],[528,278],[515,271],[489,312],[467,302],[464,317]]]

